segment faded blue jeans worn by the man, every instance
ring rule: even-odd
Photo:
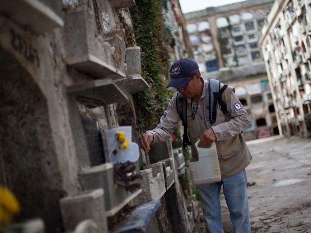
[[[225,200],[230,212],[233,233],[250,233],[245,169],[234,176],[221,179],[220,182],[196,186],[203,208],[206,232],[224,233],[219,199],[221,185],[223,185]]]

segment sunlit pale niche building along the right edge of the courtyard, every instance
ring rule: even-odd
[[[285,135],[304,135],[304,116],[311,113],[310,4],[277,0],[260,38],[279,130]]]

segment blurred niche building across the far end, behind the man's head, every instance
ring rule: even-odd
[[[246,139],[279,134],[258,43],[272,5],[271,0],[252,0],[185,14],[202,77],[233,86],[251,116],[251,125],[243,133]]]

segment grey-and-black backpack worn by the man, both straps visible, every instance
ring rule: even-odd
[[[209,109],[209,117],[211,123],[215,123],[216,121],[216,116],[217,116],[217,106],[218,103],[220,104],[222,112],[229,117],[230,113],[227,110],[227,107],[224,103],[224,101],[221,98],[221,94],[225,91],[225,89],[228,87],[228,85],[224,85],[220,89],[220,81],[215,80],[215,79],[210,79],[208,82],[208,90],[209,90],[209,95],[205,95],[205,106],[207,106],[207,103],[212,103],[212,106],[208,107]],[[208,99],[207,99],[208,98]],[[188,150],[188,146],[191,146],[191,142],[188,138],[187,134],[187,99],[184,97],[182,94],[177,92],[176,96],[176,107],[177,111],[179,113],[180,119],[183,122],[183,148],[185,150]]]

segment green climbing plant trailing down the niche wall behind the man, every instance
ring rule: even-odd
[[[165,29],[163,1],[137,0],[130,8],[136,45],[141,47],[142,76],[150,89],[136,95],[141,130],[154,128],[173,90],[166,89],[172,36]]]

